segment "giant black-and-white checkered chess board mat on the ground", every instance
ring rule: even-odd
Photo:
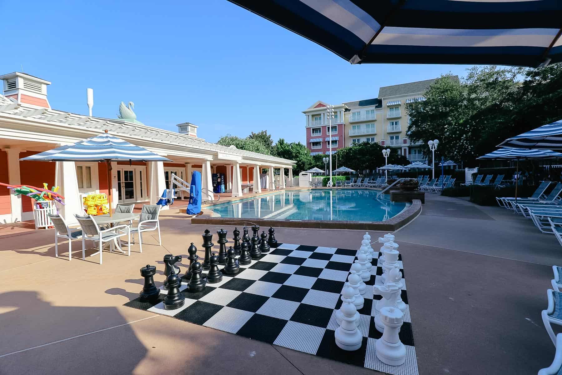
[[[182,281],[180,290],[185,295],[182,308],[164,309],[164,288],[154,303],[140,302],[137,298],[125,306],[381,372],[417,375],[405,279],[401,297],[406,303],[406,313],[399,336],[406,346],[406,362],[389,366],[375,355],[375,342],[382,333],[373,321],[378,314],[374,300],[382,297],[373,296],[372,286],[382,285],[383,273],[380,266],[375,266],[375,259],[371,279],[365,282],[365,304],[358,310],[361,314],[358,328],[363,336],[361,348],[345,351],[334,341],[334,331],[338,328],[336,310],[342,304],[340,292],[357,252],[280,243],[259,260],[240,266],[238,274],[224,275],[223,281],[216,284],[207,283],[201,292],[187,292],[187,282]],[[401,255],[398,264],[404,275]]]

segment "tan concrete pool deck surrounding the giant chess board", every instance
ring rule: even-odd
[[[375,374],[367,369],[122,306],[142,288],[139,268],[200,247],[206,225],[161,214],[162,243],[142,254],[54,257],[53,232],[0,237],[0,374]],[[220,227],[209,227],[216,231]],[[233,227],[225,227],[232,237]],[[278,228],[279,241],[358,247],[364,231]],[[380,236],[384,232],[371,233]],[[532,374],[550,365],[542,326],[560,245],[499,207],[427,195],[396,233],[404,255],[420,374]],[[94,250],[89,250],[91,254]],[[202,252],[200,252],[202,255]],[[183,269],[183,267],[182,267]],[[182,271],[183,272],[183,271]]]

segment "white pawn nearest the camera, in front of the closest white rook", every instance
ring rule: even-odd
[[[342,291],[343,304],[341,307],[342,320],[339,327],[334,333],[336,345],[343,350],[357,350],[361,347],[363,342],[363,335],[355,325],[355,314],[357,309],[351,302],[353,299],[353,288],[346,286]]]

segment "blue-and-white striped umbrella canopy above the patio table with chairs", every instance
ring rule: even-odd
[[[171,161],[164,156],[135,146],[110,134],[76,142],[70,146],[61,146],[45,152],[36,153],[20,160],[39,161]]]

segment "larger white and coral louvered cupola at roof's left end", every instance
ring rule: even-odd
[[[47,85],[51,82],[19,71],[0,75],[0,79],[4,83],[5,97],[13,98],[19,104],[51,108],[47,100]]]

